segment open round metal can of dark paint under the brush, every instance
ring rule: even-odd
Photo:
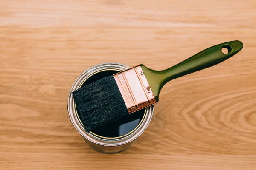
[[[154,105],[135,113],[131,113],[110,125],[97,127],[93,131],[87,133],[77,114],[72,92],[84,85],[102,79],[103,77],[113,75],[119,71],[124,71],[128,68],[130,67],[127,65],[115,62],[95,65],[80,74],[70,89],[67,103],[70,120],[82,136],[84,142],[101,153],[119,153],[134,144],[137,138],[148,127],[153,116]]]

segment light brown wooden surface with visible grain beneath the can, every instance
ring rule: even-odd
[[[164,69],[240,40],[227,61],[169,82],[130,149],[96,153],[67,113],[85,69]],[[256,170],[255,0],[0,0],[1,170]]]

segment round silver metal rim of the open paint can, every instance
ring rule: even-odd
[[[84,127],[80,123],[78,116],[76,116],[75,103],[74,103],[72,92],[77,90],[81,86],[81,83],[84,82],[83,81],[84,79],[90,76],[90,74],[95,74],[97,71],[108,70],[108,69],[109,70],[116,69],[117,71],[124,71],[128,68],[130,68],[128,65],[124,65],[117,62],[105,62],[105,63],[94,65],[88,68],[87,70],[85,70],[83,73],[81,73],[73,83],[72,87],[70,88],[70,93],[69,93],[68,102],[67,102],[67,109],[68,109],[70,121],[72,122],[76,130],[81,134],[81,136],[83,136],[85,139],[89,140],[90,142],[93,142],[99,145],[104,145],[104,146],[118,146],[118,145],[127,144],[137,139],[148,127],[151,121],[151,118],[153,116],[154,105],[151,105],[148,108],[146,108],[145,119],[141,122],[139,127],[137,127],[137,129],[134,130],[129,135],[120,139],[111,139],[111,140],[102,139],[97,136],[94,136],[91,133],[85,132]]]

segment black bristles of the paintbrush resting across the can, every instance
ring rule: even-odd
[[[72,94],[78,116],[86,132],[128,115],[125,102],[113,76],[92,82],[73,91]]]

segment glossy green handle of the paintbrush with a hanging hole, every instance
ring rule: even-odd
[[[222,53],[222,48],[227,48],[228,53]],[[156,71],[144,65],[141,65],[141,67],[158,102],[159,93],[167,82],[219,64],[238,53],[242,48],[242,42],[230,41],[207,48],[166,70]]]

